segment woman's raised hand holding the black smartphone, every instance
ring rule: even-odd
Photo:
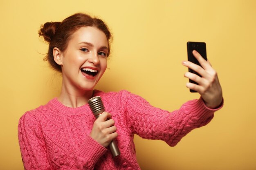
[[[222,88],[220,86],[217,72],[211,67],[210,62],[204,60],[204,58],[197,51],[193,50],[193,55],[202,67],[189,61],[182,62],[182,64],[196,71],[202,77],[190,72],[186,72],[184,77],[198,83],[197,85],[188,82],[186,87],[197,91],[201,95],[207,107],[216,108],[220,106],[222,102]]]

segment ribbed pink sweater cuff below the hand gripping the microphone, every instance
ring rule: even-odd
[[[104,155],[107,149],[92,139],[90,136],[85,137],[84,143],[76,150],[76,153],[85,159],[96,163]]]

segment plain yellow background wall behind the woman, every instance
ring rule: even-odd
[[[256,169],[256,1],[0,1],[0,169],[22,170],[17,126],[27,110],[58,96],[61,77],[43,62],[40,24],[86,12],[114,35],[109,69],[97,85],[126,89],[153,106],[175,110],[199,98],[185,87],[186,42],[207,43],[225,106],[175,147],[135,137],[143,170]]]

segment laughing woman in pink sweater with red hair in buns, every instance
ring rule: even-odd
[[[20,118],[18,137],[26,170],[137,170],[134,134],[175,146],[193,128],[209,123],[222,107],[216,71],[196,51],[193,54],[203,68],[191,62],[183,65],[202,77],[184,76],[198,82],[187,87],[201,97],[169,113],[128,91],[93,90],[110,54],[111,33],[102,20],[76,13],[63,22],[45,23],[39,35],[49,42],[45,60],[62,73],[63,82],[58,98]],[[88,106],[94,96],[101,96],[107,111],[96,120]],[[121,152],[117,157],[107,149],[113,139]]]

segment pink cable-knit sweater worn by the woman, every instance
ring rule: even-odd
[[[209,109],[202,99],[195,99],[170,113],[128,91],[95,90],[94,96],[101,96],[115,120],[121,155],[112,157],[90,137],[95,118],[88,104],[69,108],[54,98],[19,120],[18,138],[26,170],[140,170],[134,134],[175,146],[192,129],[209,123],[214,111],[222,107]]]

